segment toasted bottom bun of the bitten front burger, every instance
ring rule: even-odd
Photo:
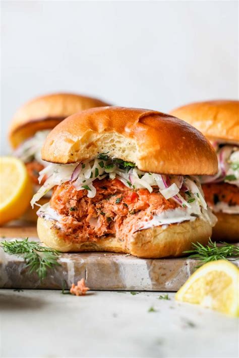
[[[182,256],[184,251],[192,248],[192,243],[207,244],[212,227],[207,221],[198,218],[169,225],[166,229],[158,226],[137,231],[127,242],[107,236],[94,242],[73,243],[57,236],[58,230],[53,227],[52,221],[38,218],[37,233],[46,246],[62,252],[110,251],[143,258],[160,258]]]

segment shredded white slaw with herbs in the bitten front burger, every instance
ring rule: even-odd
[[[183,208],[193,209],[198,216],[202,216],[202,208],[207,210],[197,177],[146,173],[131,162],[109,159],[107,155],[99,155],[93,160],[84,160],[74,164],[49,164],[40,172],[39,183],[45,175],[47,179],[33,196],[32,206],[55,185],[68,181],[71,181],[77,190],[86,189],[87,196],[92,198],[96,194],[94,180],[102,180],[108,176],[109,179],[120,180],[130,189],[146,188],[151,193],[153,187],[156,186],[165,199],[171,198]],[[180,194],[180,190],[185,192],[185,198]]]

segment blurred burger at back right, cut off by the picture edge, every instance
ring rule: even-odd
[[[209,101],[177,108],[172,115],[198,128],[218,157],[217,174],[202,177],[208,205],[217,216],[216,240],[239,240],[239,101]]]

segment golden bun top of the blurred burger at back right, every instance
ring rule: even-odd
[[[192,124],[210,139],[239,140],[239,101],[191,103],[170,114]]]

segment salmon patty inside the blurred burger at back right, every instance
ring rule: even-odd
[[[228,183],[203,184],[205,200],[210,206],[222,201],[229,206],[239,205],[239,188]]]

